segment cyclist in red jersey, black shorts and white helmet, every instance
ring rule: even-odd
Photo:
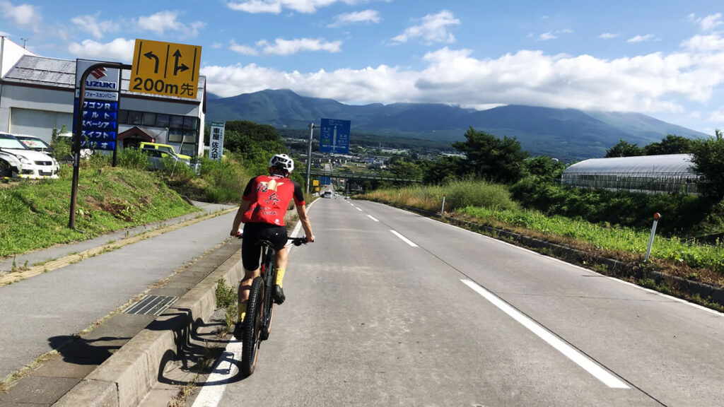
[[[246,185],[241,205],[234,217],[231,235],[239,235],[239,227],[244,224],[241,259],[244,266],[244,279],[239,284],[239,322],[243,322],[246,314],[246,302],[249,299],[249,288],[254,277],[259,276],[259,256],[261,246],[258,240],[269,240],[277,251],[275,267],[277,280],[272,293],[275,303],[285,300],[282,290],[282,279],[287,267],[287,227],[284,217],[290,201],[294,199],[299,220],[306,233],[308,242],[314,241],[312,226],[304,206],[304,195],[298,182],[289,178],[294,169],[294,161],[287,154],[277,154],[269,160],[269,175],[252,178]]]

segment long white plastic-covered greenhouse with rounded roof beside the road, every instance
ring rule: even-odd
[[[562,185],[646,193],[697,193],[690,154],[588,159],[566,168]]]

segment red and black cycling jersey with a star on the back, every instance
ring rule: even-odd
[[[284,226],[289,202],[304,205],[302,188],[295,181],[279,175],[259,175],[249,180],[242,199],[251,202],[241,222],[261,222]]]

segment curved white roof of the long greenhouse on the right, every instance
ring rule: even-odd
[[[587,159],[566,168],[563,174],[581,173],[686,173],[694,174],[690,154]]]

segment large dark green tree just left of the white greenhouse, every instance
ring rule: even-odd
[[[467,163],[476,175],[504,183],[521,179],[528,153],[521,151],[521,143],[515,137],[506,135],[500,139],[470,127],[465,138],[466,141],[452,143],[452,147],[466,154]]]

